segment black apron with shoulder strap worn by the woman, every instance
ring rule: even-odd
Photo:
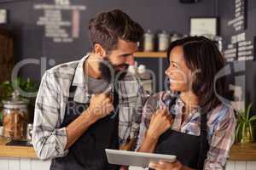
[[[202,114],[200,136],[177,132],[170,128],[160,136],[154,153],[175,155],[177,161],[183,165],[202,170],[208,150],[207,114]]]

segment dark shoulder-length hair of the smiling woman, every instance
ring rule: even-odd
[[[199,106],[203,109],[202,111],[211,111],[221,103],[215,93],[220,96],[225,95],[224,78],[214,82],[214,77],[224,67],[224,57],[214,42],[206,37],[185,37],[171,43],[167,50],[168,61],[172,49],[176,46],[183,48],[183,58],[187,67],[192,72],[197,71],[191,88],[199,98]]]

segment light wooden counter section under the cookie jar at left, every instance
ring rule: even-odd
[[[7,142],[7,139],[0,137],[0,157],[38,158],[32,146],[8,146],[5,145]]]

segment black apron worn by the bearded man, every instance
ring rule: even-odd
[[[71,84],[73,83],[73,80]],[[75,120],[86,110],[89,104],[81,104],[73,101],[77,87],[69,88],[64,121],[61,127]],[[118,95],[114,93],[114,108],[118,105]],[[114,170],[118,166],[110,165],[107,161],[105,149],[119,149],[118,139],[119,115],[106,116],[93,125],[70,147],[67,156],[57,157],[51,161],[50,170]]]

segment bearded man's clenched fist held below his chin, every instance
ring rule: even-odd
[[[93,94],[88,110],[95,121],[108,116],[113,111],[113,97],[109,94]]]

